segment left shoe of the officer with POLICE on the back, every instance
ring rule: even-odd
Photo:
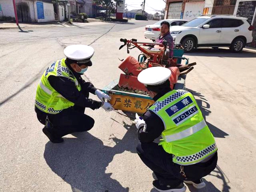
[[[183,183],[173,187],[172,185],[163,185],[159,180],[153,181],[153,187],[159,192],[185,192],[186,187]]]

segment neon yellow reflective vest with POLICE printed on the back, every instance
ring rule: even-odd
[[[173,162],[192,165],[217,151],[214,137],[191,93],[173,90],[159,98],[148,110],[165,125],[163,149],[173,154]]]

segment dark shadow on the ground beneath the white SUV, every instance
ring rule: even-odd
[[[256,53],[243,50],[240,53],[232,53],[229,49],[212,49],[212,48],[199,48],[191,53],[185,53],[186,56],[204,56],[204,57],[237,57],[237,58],[253,58]]]

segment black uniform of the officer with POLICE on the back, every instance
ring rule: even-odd
[[[158,93],[153,99],[157,101],[160,97],[171,91],[167,89]],[[161,133],[165,130],[163,121],[154,112],[147,110],[143,114],[146,122],[146,131],[143,127],[138,130],[140,143],[137,146],[137,153],[144,164],[153,170],[155,176],[163,185],[170,185],[175,188],[184,180],[197,181],[210,174],[217,165],[217,152],[206,162],[199,162],[184,167],[186,177],[180,174],[181,166],[172,161],[172,154],[167,153],[162,146],[155,143]]]

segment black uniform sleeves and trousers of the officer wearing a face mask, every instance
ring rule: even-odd
[[[58,114],[48,114],[35,107],[40,123],[45,125],[46,116],[48,116],[50,123],[53,125],[48,131],[56,139],[73,132],[89,131],[94,126],[94,119],[84,114],[84,110],[85,108],[98,109],[102,105],[102,102],[89,99],[89,93],[95,94],[97,90],[93,84],[85,82],[81,77],[82,74],[75,72],[70,65],[66,65],[81,85],[81,91],[78,91],[72,80],[62,76],[52,75],[48,77],[48,80],[53,89],[75,105]]]

